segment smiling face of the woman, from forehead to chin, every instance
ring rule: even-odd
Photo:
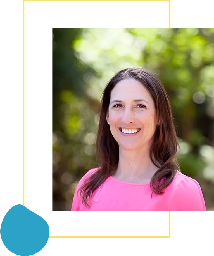
[[[116,84],[106,120],[120,149],[149,150],[158,122],[154,101],[139,81],[125,79]]]

